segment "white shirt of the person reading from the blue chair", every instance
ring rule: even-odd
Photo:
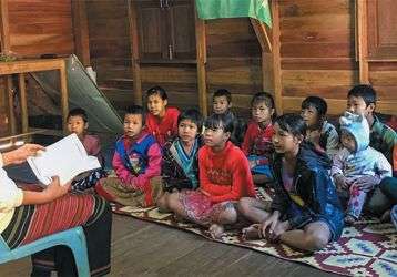
[[[2,157],[0,154],[2,166]],[[7,172],[0,167],[0,234],[10,224],[14,208],[22,204],[23,192],[7,176]]]

